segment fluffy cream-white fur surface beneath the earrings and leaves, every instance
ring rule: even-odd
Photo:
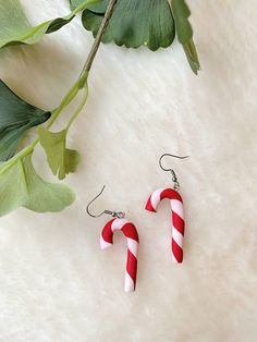
[[[22,3],[33,23],[69,11],[65,0]],[[200,75],[178,44],[157,53],[102,46],[70,134],[83,156],[66,180],[76,203],[57,215],[19,209],[1,219],[0,341],[256,341],[257,4],[189,4]],[[91,42],[76,20],[37,46],[1,51],[0,76],[52,109]],[[158,215],[144,211],[150,192],[171,184],[158,168],[166,151],[191,155],[171,159],[187,221],[181,266],[171,262],[169,203]],[[53,179],[40,148],[35,164]],[[125,210],[139,230],[134,294],[123,292],[123,236],[101,252],[108,218],[84,210],[103,184],[95,209]]]

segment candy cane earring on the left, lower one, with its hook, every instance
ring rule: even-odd
[[[103,193],[106,186],[101,192],[87,205],[86,211],[93,218],[99,218],[107,213],[113,217],[112,220],[107,222],[103,227],[100,237],[100,246],[102,249],[110,247],[113,244],[113,232],[121,230],[126,237],[127,243],[127,257],[126,257],[126,271],[125,271],[125,292],[133,292],[136,288],[137,274],[137,254],[139,246],[138,233],[135,225],[125,219],[125,213],[121,211],[103,210],[99,215],[93,215],[89,211],[89,206]]]

